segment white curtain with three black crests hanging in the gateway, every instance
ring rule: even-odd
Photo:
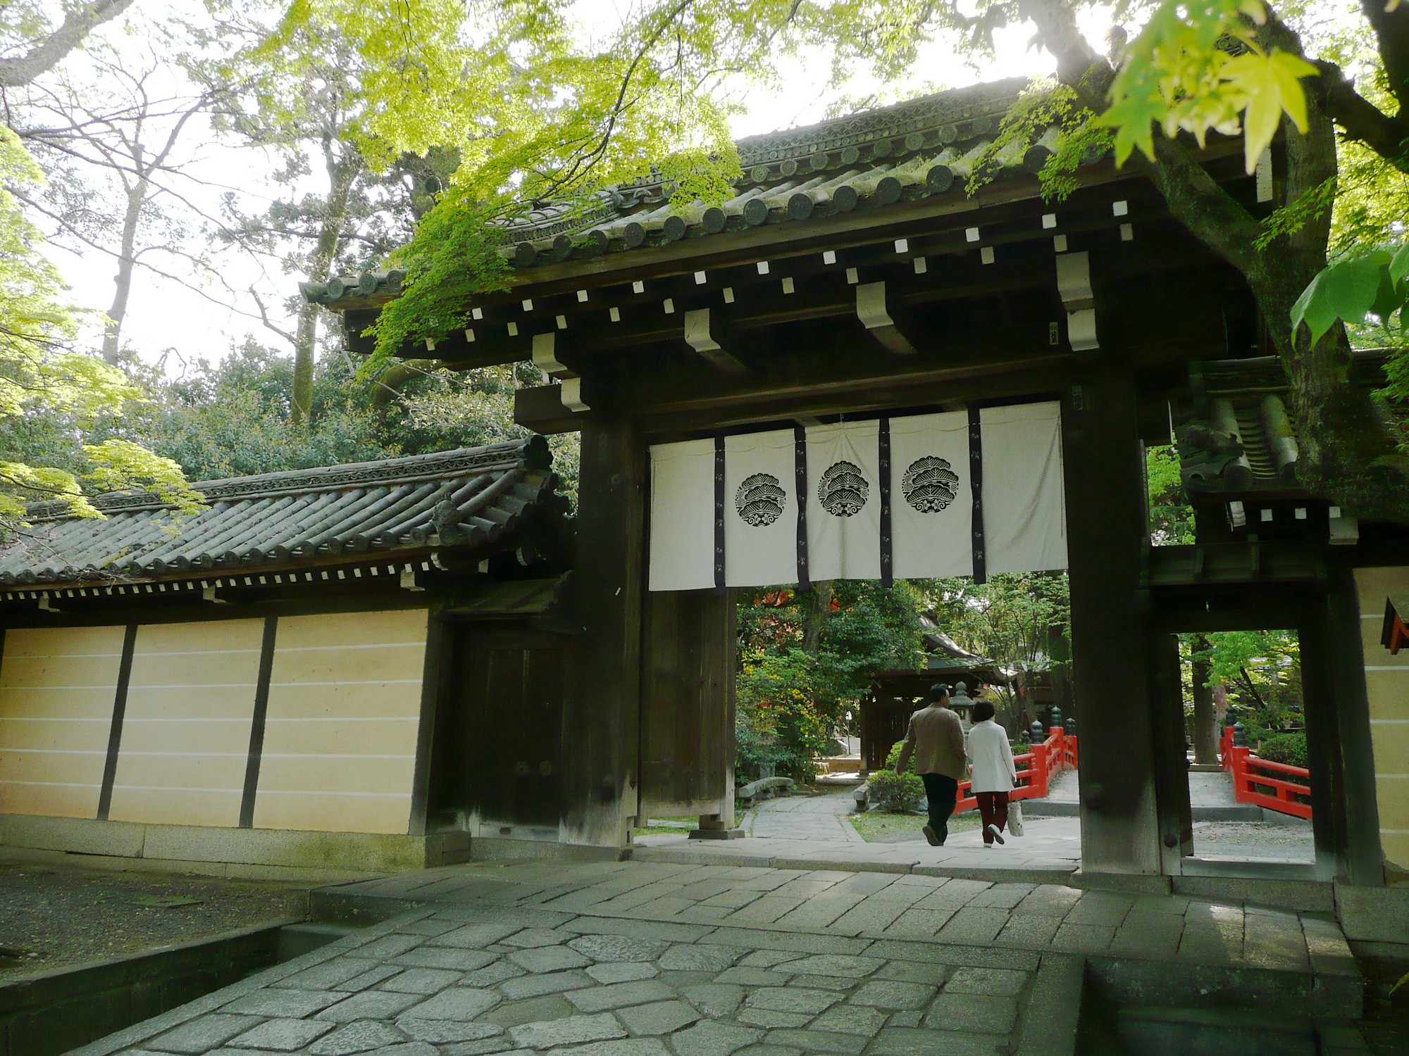
[[[1057,403],[651,448],[651,590],[1064,567]]]

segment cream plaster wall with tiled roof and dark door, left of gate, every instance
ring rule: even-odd
[[[0,552],[0,843],[356,870],[557,836],[572,559],[541,436],[199,483]]]

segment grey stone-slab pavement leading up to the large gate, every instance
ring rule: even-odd
[[[314,904],[397,915],[77,1055],[1071,1056],[1088,956],[1308,1014],[1361,1002],[1330,919],[1184,897],[534,859]]]

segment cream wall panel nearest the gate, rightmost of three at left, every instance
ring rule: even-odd
[[[280,617],[255,828],[406,834],[427,611]]]

